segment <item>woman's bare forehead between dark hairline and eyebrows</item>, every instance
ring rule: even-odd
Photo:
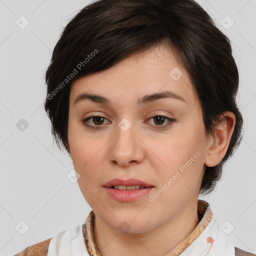
[[[176,54],[166,46],[158,45],[134,53],[114,66],[82,76],[71,85],[70,102],[80,93],[97,94],[111,102],[130,100],[146,94],[171,91],[189,104],[198,101],[192,83]]]

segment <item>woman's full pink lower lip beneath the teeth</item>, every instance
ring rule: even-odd
[[[140,189],[134,189],[134,190],[119,190],[114,189],[111,187],[104,187],[107,191],[107,193],[116,201],[119,202],[131,202],[135,201],[139,197],[148,194],[151,189],[151,187],[145,187]]]

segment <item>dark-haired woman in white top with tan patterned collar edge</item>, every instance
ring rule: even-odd
[[[240,143],[228,38],[193,0],[98,0],[64,28],[45,75],[52,133],[91,206],[16,255],[255,255],[198,200]]]

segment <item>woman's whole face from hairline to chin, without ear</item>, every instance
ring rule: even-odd
[[[164,46],[72,84],[68,143],[83,196],[116,230],[151,230],[197,202],[207,151],[202,109],[188,73]],[[115,178],[124,180],[115,185],[151,187],[106,188]],[[130,178],[140,181],[125,183]]]

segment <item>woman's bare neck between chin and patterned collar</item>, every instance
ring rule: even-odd
[[[101,256],[162,256],[184,240],[198,222],[196,199],[164,224],[144,233],[122,233],[96,215],[93,232]]]

